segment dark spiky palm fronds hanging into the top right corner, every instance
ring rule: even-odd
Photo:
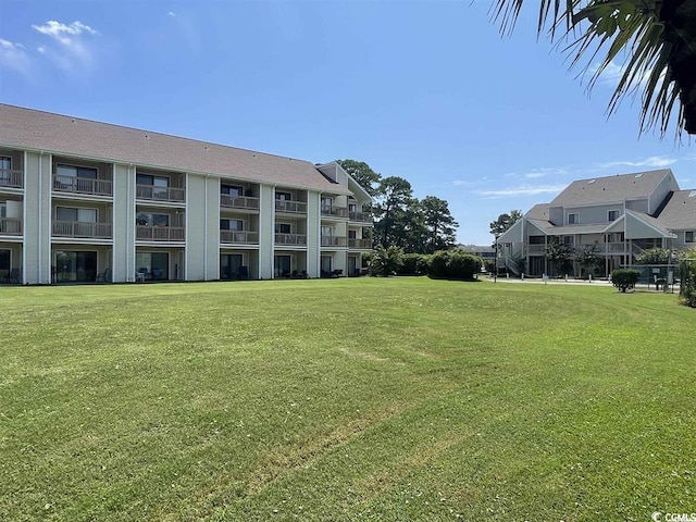
[[[504,33],[514,27],[522,4],[523,0],[496,0],[494,18]],[[562,38],[574,38],[567,47],[574,54],[571,64],[589,57],[583,72],[589,72],[606,49],[589,88],[626,57],[610,114],[643,86],[641,132],[659,126],[664,136],[679,104],[678,132],[696,134],[696,0],[540,0],[537,30],[547,29],[551,40],[557,30]]]

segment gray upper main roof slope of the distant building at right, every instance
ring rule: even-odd
[[[577,179],[559,194],[550,206],[572,207],[647,198],[666,176],[673,176],[670,169]]]

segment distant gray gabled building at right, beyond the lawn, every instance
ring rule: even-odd
[[[681,190],[664,169],[575,181],[550,203],[532,208],[498,245],[511,272],[524,264],[530,275],[554,274],[545,256],[550,241],[575,250],[594,246],[601,258],[597,275],[607,276],[646,249],[691,247],[695,236],[696,190]],[[573,272],[581,275],[576,262]]]

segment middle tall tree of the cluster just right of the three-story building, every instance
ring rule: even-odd
[[[384,177],[377,187],[374,204],[375,237],[384,248],[400,246],[405,241],[403,223],[413,202],[411,184],[398,176]]]

